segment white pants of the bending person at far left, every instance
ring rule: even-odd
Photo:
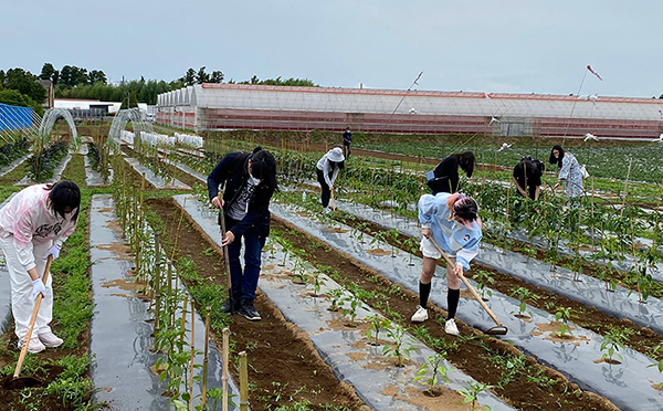
[[[46,266],[46,259],[44,255],[52,245],[52,242],[46,243],[32,243],[34,253],[34,263],[36,264],[36,272],[42,278],[44,268]],[[17,249],[13,242],[13,235],[9,235],[7,239],[0,239],[0,246],[4,252],[4,259],[7,260],[7,268],[9,270],[9,281],[11,284],[11,313],[13,314],[15,322],[15,333],[19,337],[19,341],[25,338],[28,334],[28,326],[30,325],[30,317],[32,317],[32,310],[34,309],[34,299],[32,298],[32,280],[23,266],[19,263],[19,256],[17,255]],[[34,322],[34,328],[32,329],[32,337],[36,337],[40,334],[49,333],[51,327],[49,324],[53,319],[53,287],[51,275],[46,278],[46,295],[42,298]]]

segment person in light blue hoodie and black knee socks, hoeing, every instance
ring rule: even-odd
[[[444,331],[457,336],[459,328],[454,318],[461,294],[459,274],[462,274],[463,270],[470,270],[470,262],[478,253],[482,239],[478,204],[462,193],[423,194],[419,199],[419,222],[423,235],[420,245],[423,266],[419,280],[419,305],[412,316],[412,323],[428,319],[427,304],[431,293],[431,281],[435,274],[436,261],[442,256],[429,240],[433,239],[455,264],[446,265],[449,317],[444,324]]]

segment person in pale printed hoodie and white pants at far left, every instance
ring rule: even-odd
[[[28,351],[41,352],[59,347],[62,338],[53,334],[52,277],[42,281],[49,255],[60,255],[64,241],[76,229],[81,190],[73,181],[36,185],[18,192],[0,210],[0,246],[4,253],[11,285],[11,310],[19,348],[28,334],[34,301],[43,299],[36,315]]]

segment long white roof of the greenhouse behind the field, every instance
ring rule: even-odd
[[[339,113],[663,120],[663,101],[578,95],[290,87],[203,83],[160,94],[159,106]],[[398,109],[397,109],[398,107]]]

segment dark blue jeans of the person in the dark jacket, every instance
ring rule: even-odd
[[[227,218],[227,228],[230,230],[236,221]],[[244,239],[244,272],[240,262],[240,251]],[[228,260],[230,261],[230,280],[232,283],[232,296],[240,299],[255,299],[257,277],[260,276],[261,252],[265,245],[266,238],[259,236],[251,231],[228,244]]]

